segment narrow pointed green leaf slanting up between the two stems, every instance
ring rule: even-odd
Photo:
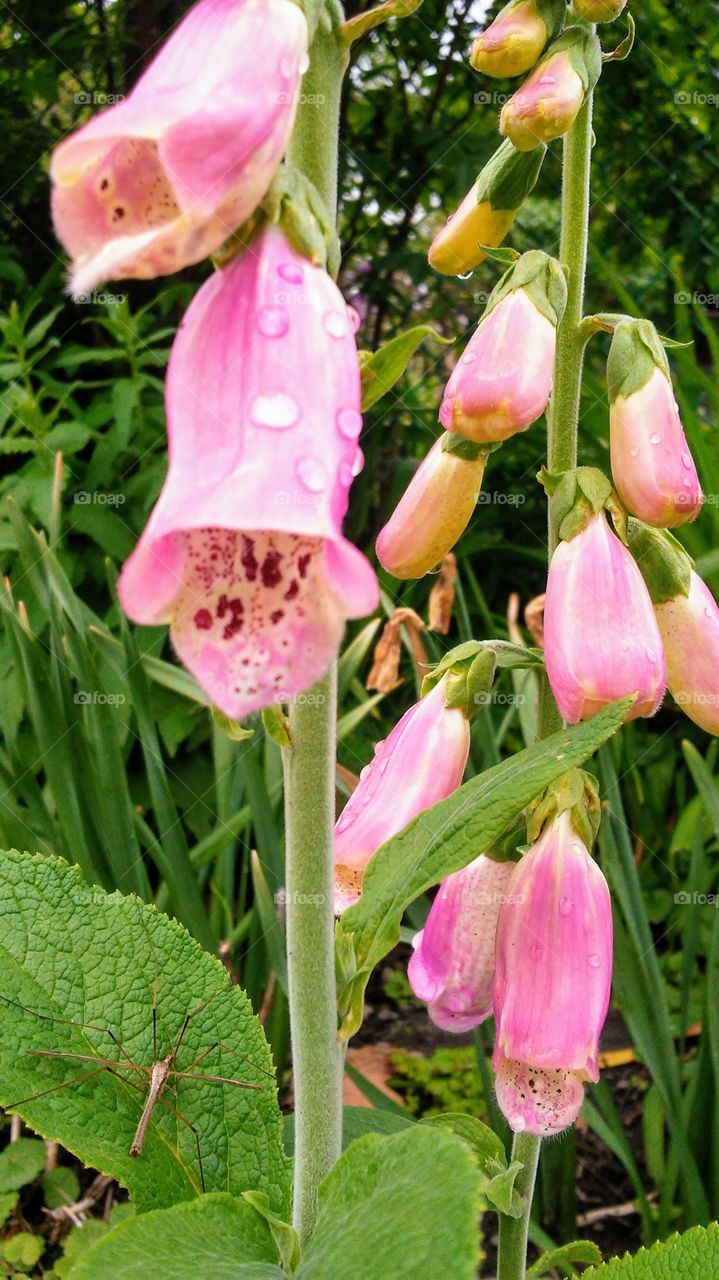
[[[368,975],[399,941],[409,904],[490,849],[544,787],[614,733],[629,705],[631,699],[613,703],[583,724],[563,728],[486,769],[377,850],[365,873],[362,897],[338,924],[343,1036],[361,1025]]]

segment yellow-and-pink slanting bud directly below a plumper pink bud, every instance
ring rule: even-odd
[[[395,577],[422,577],[441,563],[470,524],[486,452],[462,442],[459,452],[435,440],[376,541],[377,559]],[[462,445],[475,449],[464,457]]]

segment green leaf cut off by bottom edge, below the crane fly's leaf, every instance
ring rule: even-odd
[[[72,1280],[274,1280],[284,1271],[264,1219],[216,1193],[120,1222],[83,1253]]]

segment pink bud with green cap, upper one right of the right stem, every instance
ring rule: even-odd
[[[649,320],[617,325],[606,365],[612,476],[632,515],[658,529],[693,520],[702,494],[661,340]]]

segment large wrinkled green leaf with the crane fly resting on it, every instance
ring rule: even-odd
[[[159,1056],[174,1047],[186,1015],[210,1001],[189,1020],[178,1069],[187,1070],[205,1050],[223,1042],[229,1050],[214,1048],[196,1073],[261,1085],[255,1091],[178,1079],[175,1096],[168,1093],[197,1129],[207,1190],[264,1190],[276,1211],[287,1210],[288,1162],[270,1053],[244,992],[230,984],[219,960],[182,925],[137,899],[88,886],[77,868],[60,859],[17,852],[0,855],[0,992],[6,997],[0,998],[4,1106],[93,1070],[92,1061],[36,1057],[28,1050],[120,1060],[105,1028],[136,1064],[150,1065],[156,974]],[[130,1071],[118,1075],[123,1079],[100,1071],[17,1110],[38,1133],[116,1178],[138,1210],[192,1198],[201,1185],[192,1132],[171,1110],[157,1106],[142,1156],[130,1158],[145,1080]]]

